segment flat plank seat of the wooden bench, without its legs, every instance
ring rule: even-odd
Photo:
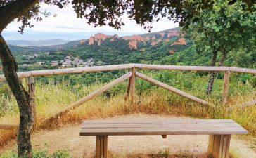
[[[248,131],[231,119],[87,120],[80,136],[231,135]]]

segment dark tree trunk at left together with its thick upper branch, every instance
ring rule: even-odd
[[[34,117],[32,114],[32,104],[29,93],[25,91],[17,76],[18,65],[8,48],[6,41],[1,36],[1,32],[7,25],[30,10],[39,0],[15,0],[8,1],[0,7],[0,59],[3,65],[4,76],[11,88],[20,110],[20,125],[18,128],[18,157],[32,157],[32,146],[30,142],[30,132]]]

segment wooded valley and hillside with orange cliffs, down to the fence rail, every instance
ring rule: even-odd
[[[193,41],[181,33],[179,28],[124,37],[96,33],[89,39],[53,46],[9,46],[19,65],[31,65],[20,71],[63,67],[66,60],[81,60],[90,66],[124,63],[210,65],[212,58],[211,53],[197,53]],[[224,65],[252,67],[256,61],[255,54],[229,54]]]

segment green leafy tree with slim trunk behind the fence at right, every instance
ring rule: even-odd
[[[249,7],[238,0],[231,4],[215,0],[212,9],[205,9],[191,18],[184,31],[193,39],[198,53],[212,53],[211,66],[215,66],[220,54],[219,66],[232,51],[248,52],[256,44],[256,5]],[[210,72],[206,93],[212,92],[216,72]]]

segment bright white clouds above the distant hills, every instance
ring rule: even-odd
[[[108,26],[96,27],[93,25],[88,25],[84,19],[77,18],[75,11],[71,6],[68,6],[63,9],[59,9],[58,6],[46,6],[41,7],[41,11],[49,11],[52,14],[56,13],[57,16],[54,18],[52,15],[49,18],[44,18],[41,22],[33,21],[32,27],[30,30],[39,31],[39,32],[126,32],[132,34],[141,34],[146,33],[148,30],[143,29],[140,25],[137,25],[134,20],[129,20],[126,16],[123,18],[125,23],[120,30],[115,30]],[[11,22],[8,25],[7,29],[4,32],[13,32],[17,31],[20,23],[17,21]],[[164,29],[169,29],[173,27],[178,27],[177,23],[174,23],[167,18],[162,18],[158,22],[153,23],[153,29],[151,32],[158,32]]]

